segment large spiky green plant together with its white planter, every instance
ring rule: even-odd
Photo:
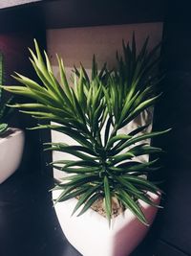
[[[22,85],[3,86],[32,99],[30,104],[13,107],[38,119],[36,128],[59,131],[76,142],[49,142],[45,146],[76,157],[51,163],[66,174],[55,181],[53,197],[59,202],[55,210],[66,237],[85,256],[128,255],[148,231],[159,208],[161,191],[147,175],[158,169],[155,165],[161,149],[145,140],[167,130],[143,132],[149,125],[144,124],[119,133],[160,96],[159,58],[155,57],[159,46],[149,53],[147,43],[148,39],[138,53],[135,36],[131,47],[123,42],[124,58],[117,55],[118,66],[113,72],[105,65],[98,72],[95,58],[91,79],[82,65],[75,68],[70,86],[62,59],[57,56],[59,82],[47,54],[44,61],[34,40],[36,53],[30,50],[30,59],[41,82],[16,73],[14,78]],[[42,125],[41,120],[56,124]],[[144,154],[157,158],[140,162],[138,156]]]

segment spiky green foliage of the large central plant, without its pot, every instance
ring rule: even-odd
[[[13,107],[20,108],[39,122],[46,120],[57,123],[39,124],[36,128],[50,128],[65,133],[76,142],[73,146],[64,142],[46,143],[46,150],[67,152],[77,157],[77,160],[63,159],[52,163],[53,167],[68,174],[55,186],[55,189],[61,190],[56,202],[78,197],[74,212],[83,205],[78,214],[80,216],[98,198],[103,198],[107,218],[111,221],[114,197],[122,207],[130,209],[139,221],[148,224],[138,199],[158,207],[146,192],[159,195],[159,188],[145,178],[145,175],[156,170],[154,164],[158,159],[141,163],[136,157],[158,154],[161,149],[142,141],[159,136],[166,130],[140,134],[147,124],[128,134],[118,134],[118,129],[159,99],[157,82],[148,82],[151,77],[156,77],[150,68],[156,61],[155,50],[147,53],[145,42],[137,54],[134,38],[131,48],[123,44],[125,61],[118,58],[119,68],[107,80],[103,82],[101,79],[107,73],[106,69],[103,68],[99,76],[94,60],[92,79],[87,77],[81,66],[79,70],[75,69],[71,87],[62,59],[57,56],[59,82],[53,75],[47,54],[44,52],[43,57],[35,40],[34,44],[35,53],[30,50],[30,60],[41,82],[16,73],[14,78],[21,85],[3,87],[11,93],[32,99],[31,104]],[[130,70],[127,72],[126,68]],[[126,75],[121,78],[123,73]]]

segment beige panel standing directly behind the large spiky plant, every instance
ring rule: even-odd
[[[133,32],[136,34],[138,47],[149,35],[149,47],[152,48],[162,35],[162,23],[128,24],[119,26],[101,26],[88,28],[70,28],[47,31],[48,55],[53,63],[53,71],[58,77],[58,67],[55,53],[64,59],[68,77],[74,64],[79,66],[81,61],[85,68],[90,69],[93,54],[96,55],[99,67],[107,61],[112,68],[115,65],[116,52],[121,51],[122,39],[129,41]],[[67,136],[53,132],[53,141],[73,143]],[[71,159],[71,155],[53,152],[53,160]],[[67,158],[66,158],[67,157]],[[54,171],[54,175],[60,175]]]

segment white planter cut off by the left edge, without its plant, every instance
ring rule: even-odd
[[[10,129],[7,137],[0,137],[0,183],[16,171],[24,148],[24,132],[18,128]]]

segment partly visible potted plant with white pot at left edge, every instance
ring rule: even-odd
[[[0,54],[0,84],[4,83],[4,61]],[[5,100],[0,88],[0,183],[18,168],[24,147],[24,133],[18,128],[9,128],[11,99]]]

